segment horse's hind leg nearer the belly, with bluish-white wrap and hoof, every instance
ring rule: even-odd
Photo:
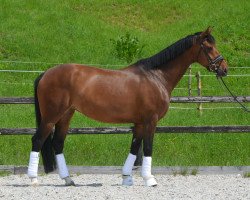
[[[66,165],[65,157],[63,154],[64,141],[69,129],[70,120],[74,114],[74,110],[67,111],[64,116],[56,123],[55,133],[52,139],[52,145],[55,151],[56,164],[58,173],[61,179],[65,180],[66,186],[75,185],[70,178],[70,174]]]

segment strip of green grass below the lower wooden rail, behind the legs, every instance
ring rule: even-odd
[[[69,135],[65,157],[70,165],[122,165],[131,135]],[[250,164],[250,135],[156,134],[154,166],[242,166]],[[31,136],[1,136],[0,165],[27,165]]]

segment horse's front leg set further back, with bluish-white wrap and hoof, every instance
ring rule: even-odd
[[[133,129],[133,139],[131,143],[130,153],[125,161],[122,168],[122,185],[131,186],[133,185],[132,170],[133,166],[142,143],[142,125],[135,125]]]

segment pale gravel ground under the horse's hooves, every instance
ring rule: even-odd
[[[65,187],[57,174],[39,177],[39,186],[30,186],[26,175],[0,177],[0,199],[249,199],[250,179],[240,175],[156,175],[158,186],[143,186],[134,176],[134,186],[121,185],[120,175],[73,175],[76,186]]]

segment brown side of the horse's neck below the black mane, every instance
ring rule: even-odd
[[[191,47],[189,50],[178,56],[176,59],[168,62],[166,66],[162,66],[159,70],[161,76],[165,79],[166,88],[169,94],[176,87],[188,67],[195,62],[196,48]]]

